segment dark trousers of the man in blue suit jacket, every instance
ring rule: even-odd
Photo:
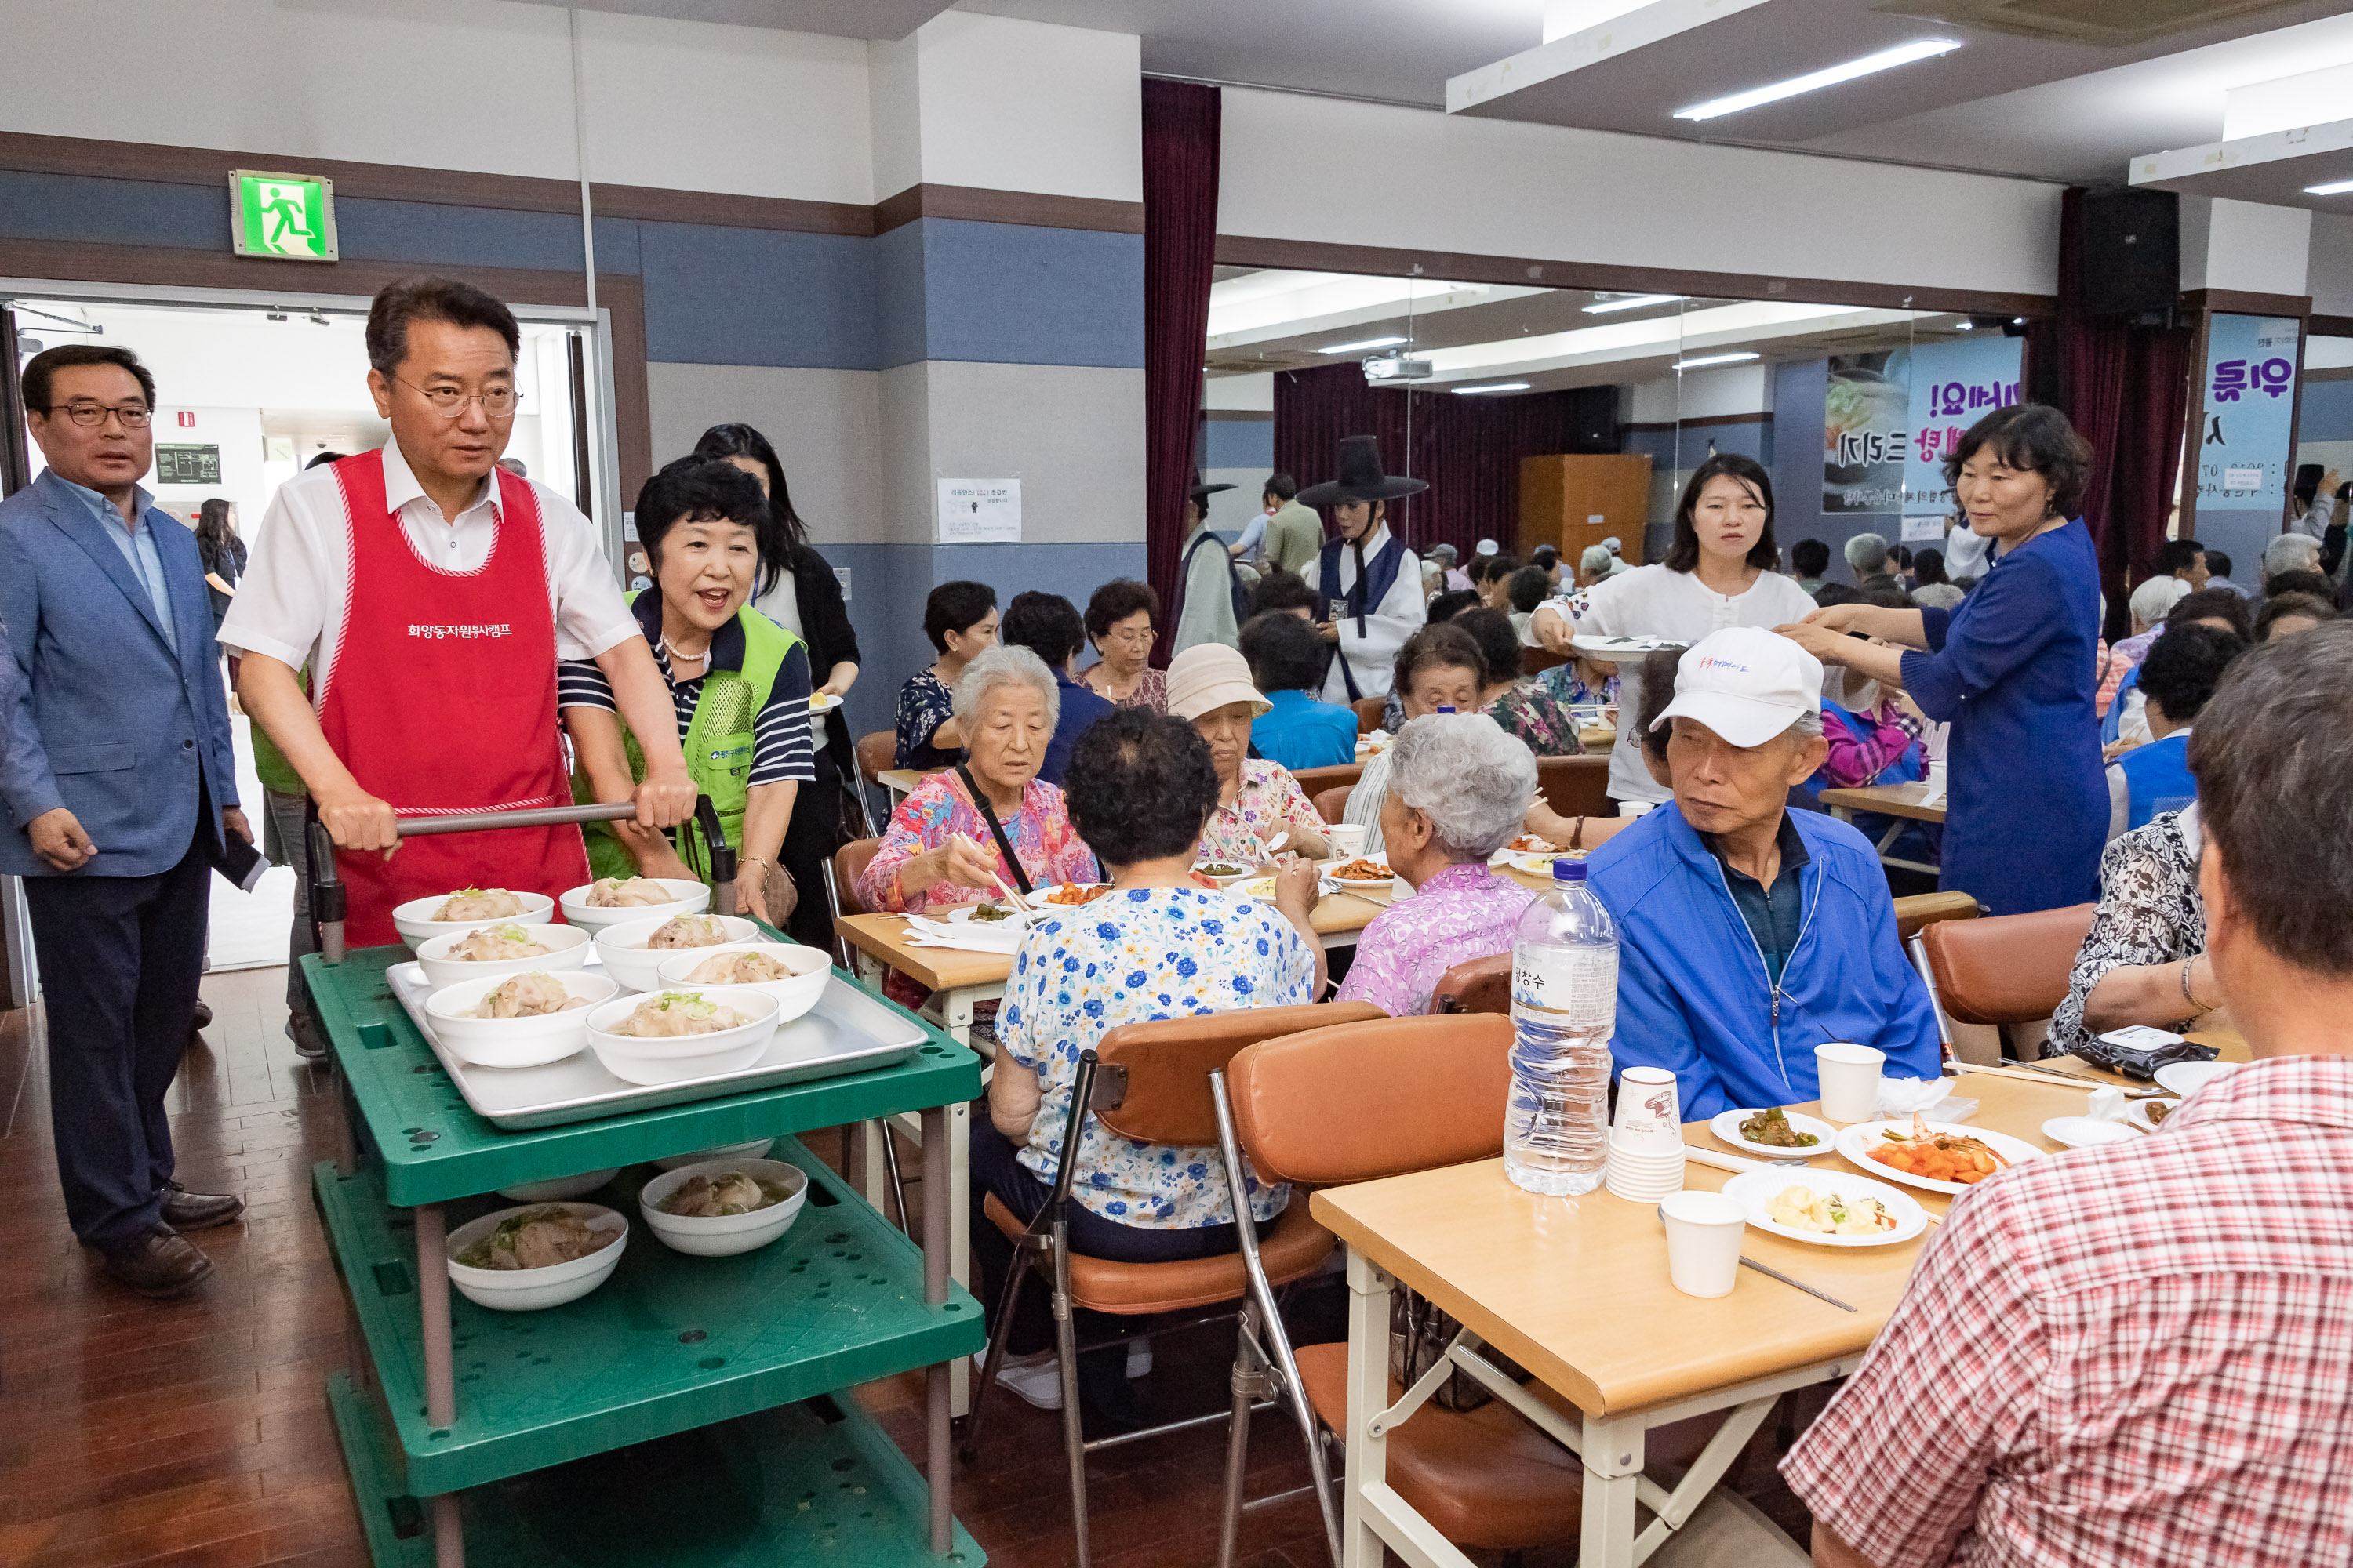
[[[162,1100],[205,978],[212,806],[155,877],[26,877],[49,1013],[49,1131],[66,1220],[115,1251],[155,1225],[172,1180]]]

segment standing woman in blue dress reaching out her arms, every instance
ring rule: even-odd
[[[1993,541],[1977,592],[1951,611],[1833,604],[1779,628],[1821,663],[1901,686],[1951,722],[1939,886],[1995,914],[2099,898],[2099,559],[2073,517],[2089,468],[2092,449],[2059,409],[1988,414],[1944,463],[1969,531]]]

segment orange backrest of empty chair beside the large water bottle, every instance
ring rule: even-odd
[[[1332,1187],[1504,1152],[1511,1018],[1379,1018],[1249,1046],[1233,1131],[1266,1180]]]

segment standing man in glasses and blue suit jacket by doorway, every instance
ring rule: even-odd
[[[24,369],[49,468],[0,501],[0,872],[24,877],[49,1009],[49,1126],[73,1234],[141,1295],[212,1272],[181,1229],[235,1197],[172,1180],[165,1091],[205,976],[207,872],[238,811],[195,536],[139,477],[155,378],[75,343]]]

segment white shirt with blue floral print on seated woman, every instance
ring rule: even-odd
[[[1005,980],[998,1048],[1038,1074],[1021,1164],[1054,1178],[1078,1056],[1122,1023],[1315,999],[1315,954],[1275,905],[1205,889],[1127,889],[1031,926]],[[1245,1171],[1247,1175],[1247,1171]],[[1087,1119],[1071,1197],[1120,1225],[1231,1225],[1214,1147],[1134,1143]],[[1289,1187],[1249,1178],[1249,1213],[1282,1213]]]

